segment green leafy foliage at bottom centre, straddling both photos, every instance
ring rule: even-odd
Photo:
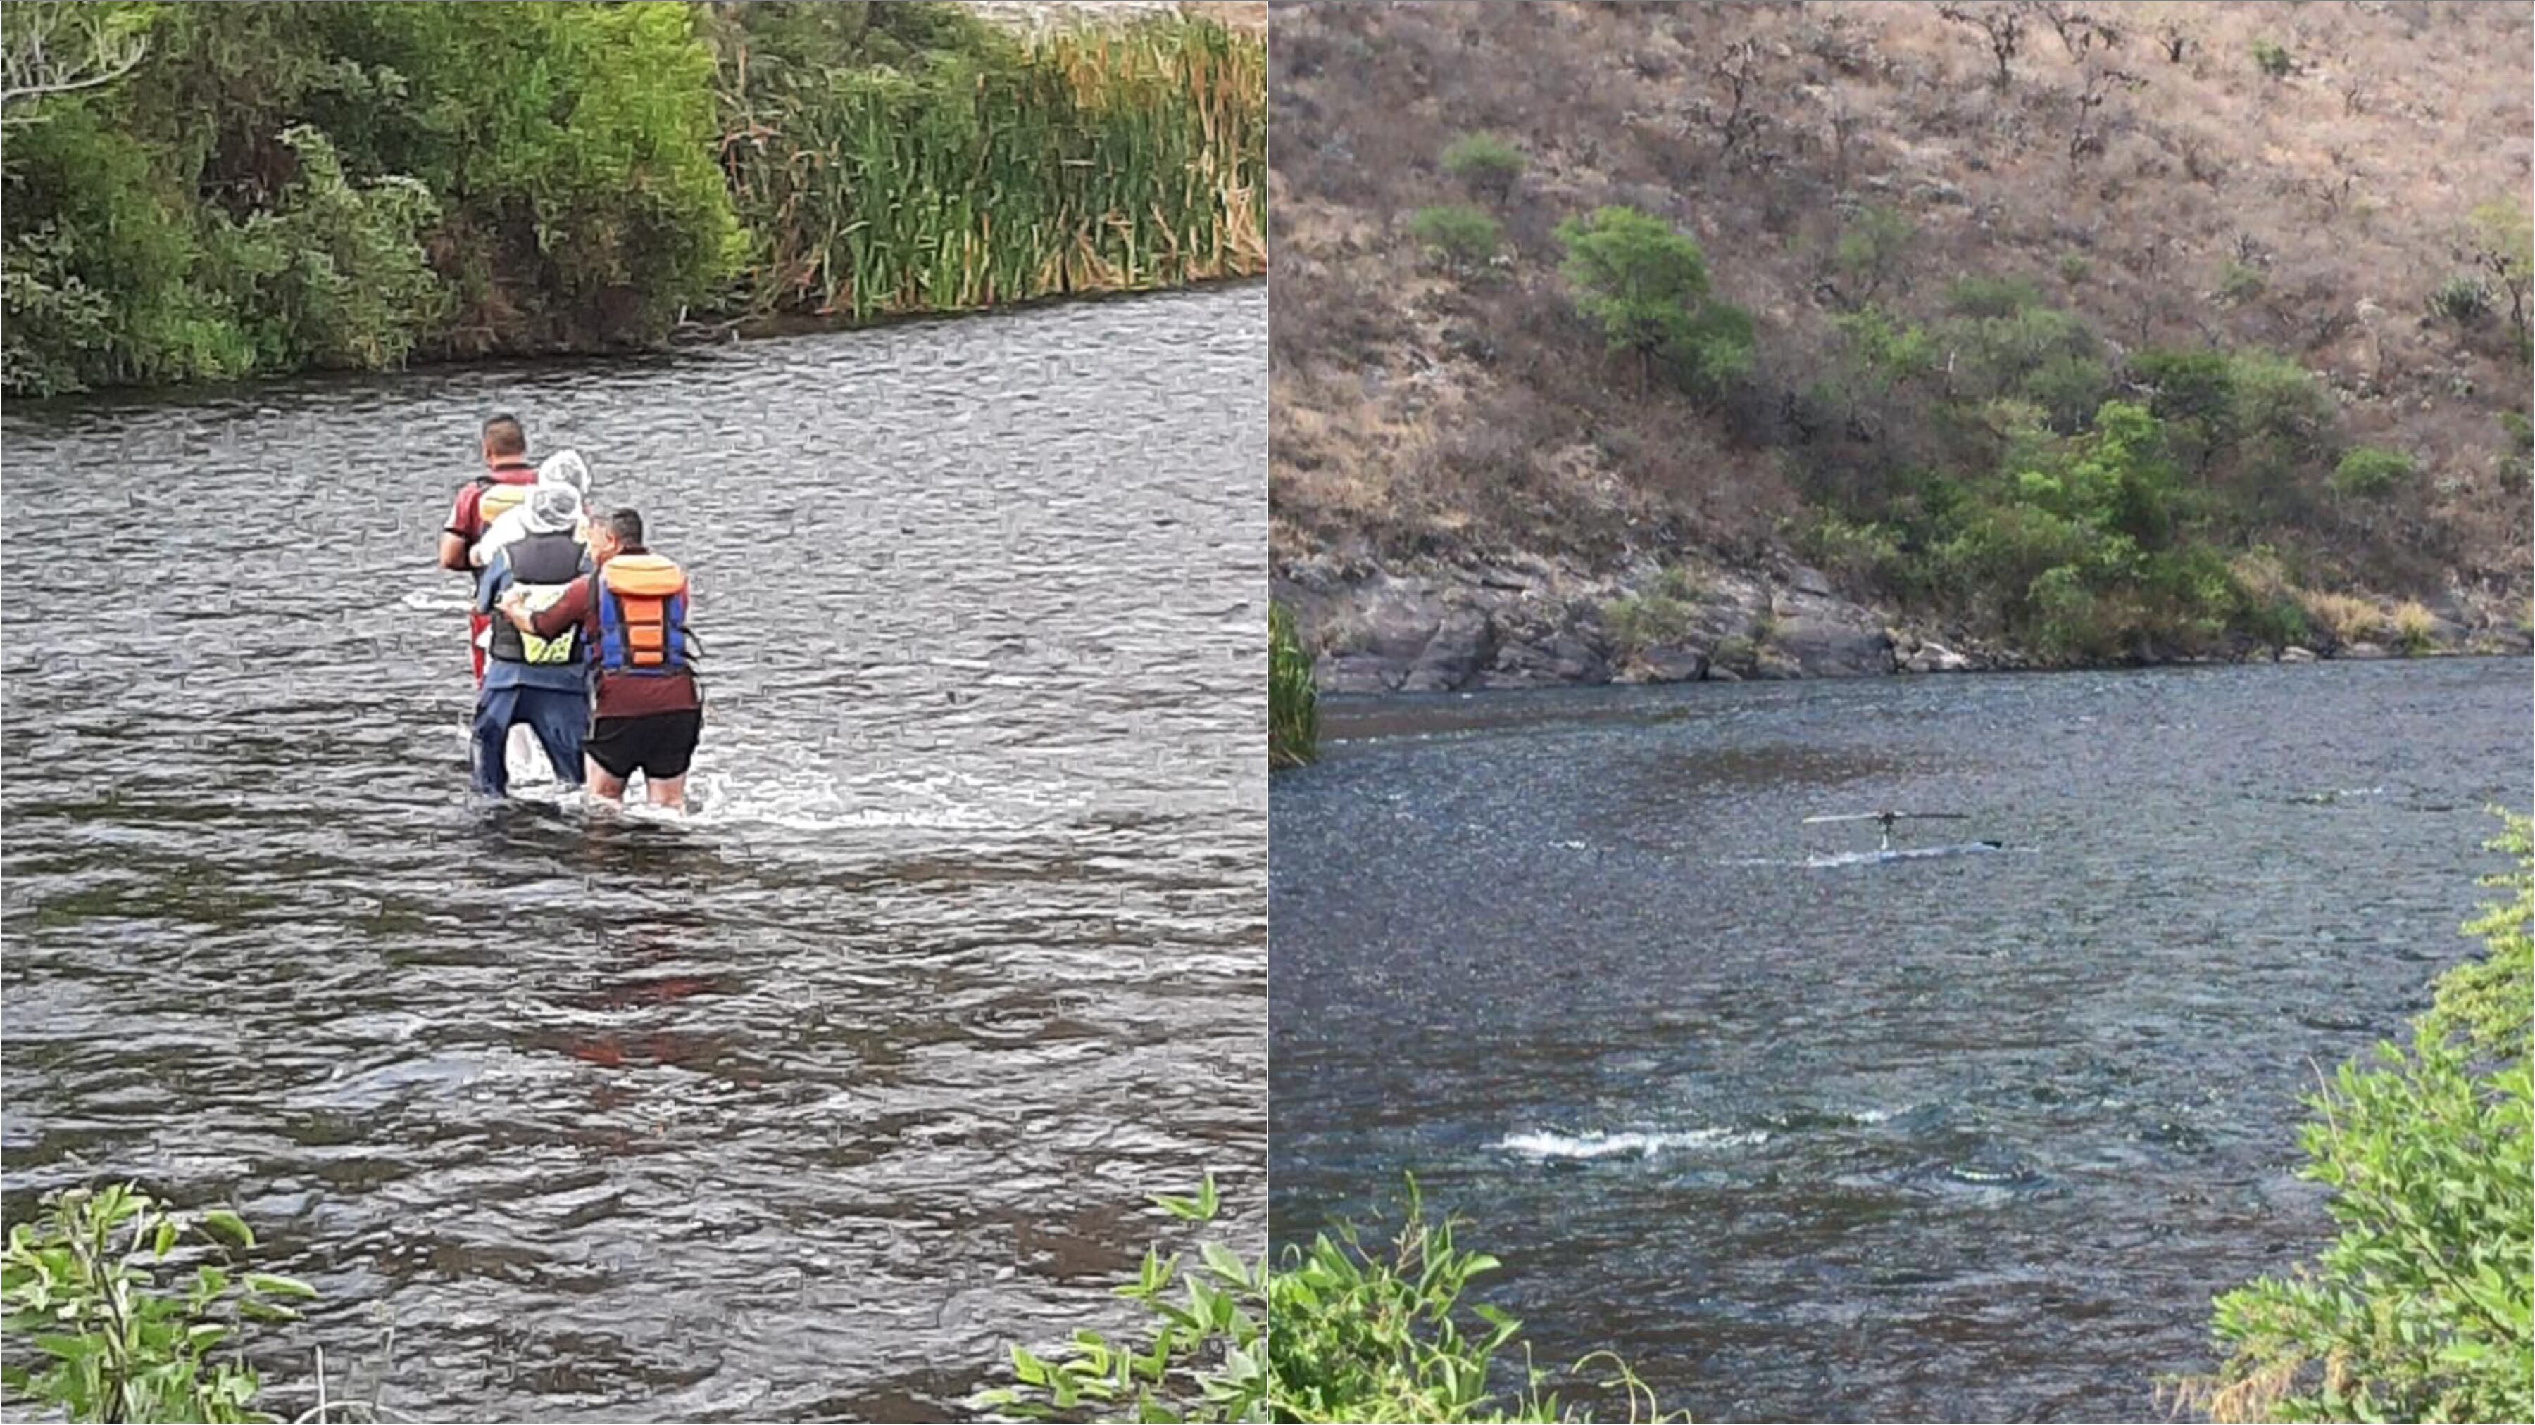
[[[1181,1222],[1212,1222],[1214,1179],[1194,1199],[1153,1202]],[[1019,1420],[1103,1407],[1128,1410],[1126,1420],[1191,1422],[1587,1420],[1544,1395],[1549,1372],[1534,1369],[1529,1351],[1521,1395],[1498,1400],[1491,1390],[1521,1324],[1463,1301],[1470,1280],[1498,1265],[1455,1245],[1463,1225],[1430,1220],[1412,1179],[1399,1230],[1379,1245],[1338,1227],[1268,1270],[1204,1242],[1186,1275],[1176,1255],[1148,1250],[1138,1278],[1118,1291],[1153,1313],[1151,1344],[1075,1331],[1052,1359],[1014,1346],[1017,1384],[984,1392],[979,1405]],[[1612,1374],[1592,1384],[1622,1392],[1627,1420],[1668,1420],[1610,1351],[1577,1362],[1579,1374],[1597,1367]]]

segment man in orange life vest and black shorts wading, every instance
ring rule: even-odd
[[[641,515],[616,510],[591,520],[596,573],[575,578],[560,598],[530,611],[512,591],[502,616],[520,631],[553,639],[581,626],[598,664],[591,735],[581,743],[591,796],[621,801],[636,771],[651,806],[687,806],[687,763],[705,728],[687,644],[687,573],[641,543]]]

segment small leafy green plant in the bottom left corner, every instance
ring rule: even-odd
[[[185,1245],[210,1248],[223,1265],[198,1263],[185,1280],[170,1268]],[[0,1255],[0,1331],[43,1364],[0,1369],[0,1387],[71,1420],[269,1420],[251,1410],[261,1382],[238,1326],[297,1321],[281,1301],[317,1291],[286,1275],[231,1275],[231,1248],[254,1245],[236,1212],[172,1212],[132,1184],[48,1197],[33,1222],[10,1225]]]

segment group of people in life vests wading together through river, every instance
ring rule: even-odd
[[[484,421],[484,474],[459,489],[441,568],[477,581],[474,786],[510,791],[510,730],[525,725],[555,781],[624,801],[644,776],[654,806],[684,809],[702,730],[687,634],[687,573],[641,540],[641,515],[586,510],[575,451],[527,461],[517,416]]]

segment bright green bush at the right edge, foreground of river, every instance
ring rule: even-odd
[[[2507,900],[2464,931],[2408,1042],[2314,1095],[2302,1177],[2332,1189],[2312,1265],[2218,1298],[2226,1367],[2185,1397],[2213,1420],[2527,1420],[2535,1412],[2530,822],[2492,842]]]

